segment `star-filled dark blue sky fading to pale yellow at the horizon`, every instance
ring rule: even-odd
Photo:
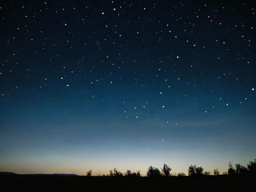
[[[256,157],[253,1],[1,1],[0,171]]]

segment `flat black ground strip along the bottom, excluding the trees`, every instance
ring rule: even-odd
[[[254,191],[255,177],[0,176],[0,191]]]

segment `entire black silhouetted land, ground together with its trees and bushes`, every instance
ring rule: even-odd
[[[149,166],[146,176],[140,171],[125,173],[116,168],[107,176],[75,174],[16,174],[0,172],[1,191],[255,191],[256,159],[247,166],[229,162],[228,172],[219,175],[219,170],[204,171],[201,166],[190,165],[188,175],[171,174],[172,169],[164,164],[161,171]]]

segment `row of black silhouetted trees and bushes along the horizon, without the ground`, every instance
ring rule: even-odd
[[[232,164],[229,162],[228,164],[229,168],[228,168],[228,172],[223,172],[223,175],[256,175],[256,159],[254,159],[254,161],[249,161],[249,163],[245,166],[240,165],[240,164],[235,164],[235,167],[232,166]],[[160,176],[164,176],[164,177],[168,177],[168,176],[186,176],[185,173],[181,172],[181,173],[170,173],[171,172],[171,168],[164,164],[163,167],[161,169],[157,168],[157,167],[152,167],[149,166],[146,176],[147,177],[160,177]],[[213,174],[214,175],[220,175],[219,170],[218,169],[214,169],[213,170]],[[204,169],[200,166],[197,167],[196,165],[190,165],[188,167],[188,176],[207,176],[207,175],[211,175],[210,171],[204,171]],[[92,170],[87,171],[86,176],[92,176]],[[131,170],[128,170],[125,173],[122,173],[120,171],[117,171],[116,168],[114,168],[114,170],[110,170],[109,174],[105,175],[97,175],[97,176],[132,176],[132,177],[141,177],[140,171],[136,171],[136,172],[132,172]]]

